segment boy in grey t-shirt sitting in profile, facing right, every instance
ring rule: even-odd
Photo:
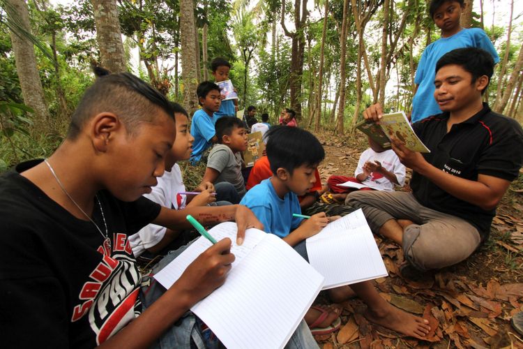
[[[209,153],[203,181],[213,184],[225,181],[234,185],[238,195],[231,198],[231,202],[237,204],[245,194],[241,151],[247,149],[247,133],[237,117],[221,117],[216,121],[216,136],[218,144]]]

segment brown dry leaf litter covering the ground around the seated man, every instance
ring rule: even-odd
[[[353,176],[366,138],[359,134],[319,133],[326,151],[320,166],[323,183],[331,174]],[[407,172],[407,182],[411,173]],[[365,304],[342,304],[338,332],[316,336],[320,348],[523,348],[510,318],[523,310],[523,172],[501,200],[490,239],[469,259],[423,282],[403,279],[399,246],[375,237],[389,276],[374,281],[384,299],[430,321],[425,340],[405,337],[363,317]],[[406,185],[402,190],[408,190]],[[318,304],[330,301],[322,292]]]

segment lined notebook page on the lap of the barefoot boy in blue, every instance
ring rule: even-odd
[[[325,277],[324,290],[388,275],[361,209],[329,223],[306,244],[310,265]]]

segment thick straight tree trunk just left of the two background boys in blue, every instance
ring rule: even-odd
[[[180,0],[181,74],[183,78],[183,107],[192,115],[198,108],[196,87],[195,12],[192,0]]]

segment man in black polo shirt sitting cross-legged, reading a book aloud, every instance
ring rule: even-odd
[[[487,239],[496,206],[518,175],[522,128],[482,102],[493,69],[492,56],[474,47],[441,57],[434,98],[443,113],[412,125],[430,154],[392,140],[413,170],[412,193],[355,191],[347,197],[347,205],[363,209],[373,232],[403,247],[404,270],[440,269],[468,258]],[[363,112],[372,121],[381,114],[380,105]]]

